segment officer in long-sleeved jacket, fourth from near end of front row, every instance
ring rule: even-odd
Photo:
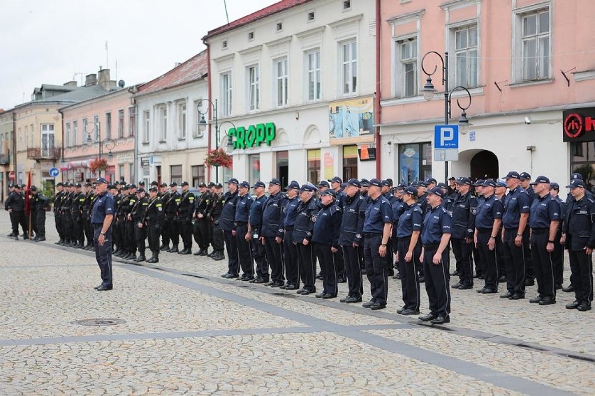
[[[363,245],[364,219],[366,216],[367,200],[360,192],[362,185],[357,178],[350,178],[345,188],[345,201],[341,218],[341,234],[339,245],[343,249],[345,270],[347,274],[348,294],[341,298],[341,303],[360,303],[364,293],[361,261]]]

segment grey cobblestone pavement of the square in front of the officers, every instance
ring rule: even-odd
[[[6,212],[0,229],[1,395],[595,394],[595,314],[564,309],[571,294],[541,307],[454,290],[452,322],[432,328],[396,314],[396,280],[369,311],[170,253],[115,259],[115,289],[98,292],[94,254],[55,245],[52,215],[45,242],[4,237]]]

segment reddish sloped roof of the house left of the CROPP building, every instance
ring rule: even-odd
[[[198,79],[203,79],[207,75],[207,71],[207,50],[204,50],[179,66],[172,68],[168,73],[140,86],[136,96],[171,89]]]

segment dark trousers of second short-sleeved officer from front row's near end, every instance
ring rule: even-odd
[[[409,250],[411,236],[399,238],[397,244],[399,252],[399,268],[401,268],[401,288],[403,293],[403,308],[406,310],[420,310],[420,278],[417,268],[420,262],[421,244],[418,242],[413,248],[411,261],[405,261],[405,255]]]

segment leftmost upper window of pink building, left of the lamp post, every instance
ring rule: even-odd
[[[409,97],[418,95],[418,40],[408,38],[397,40],[395,49],[398,59],[395,76],[395,96]]]

